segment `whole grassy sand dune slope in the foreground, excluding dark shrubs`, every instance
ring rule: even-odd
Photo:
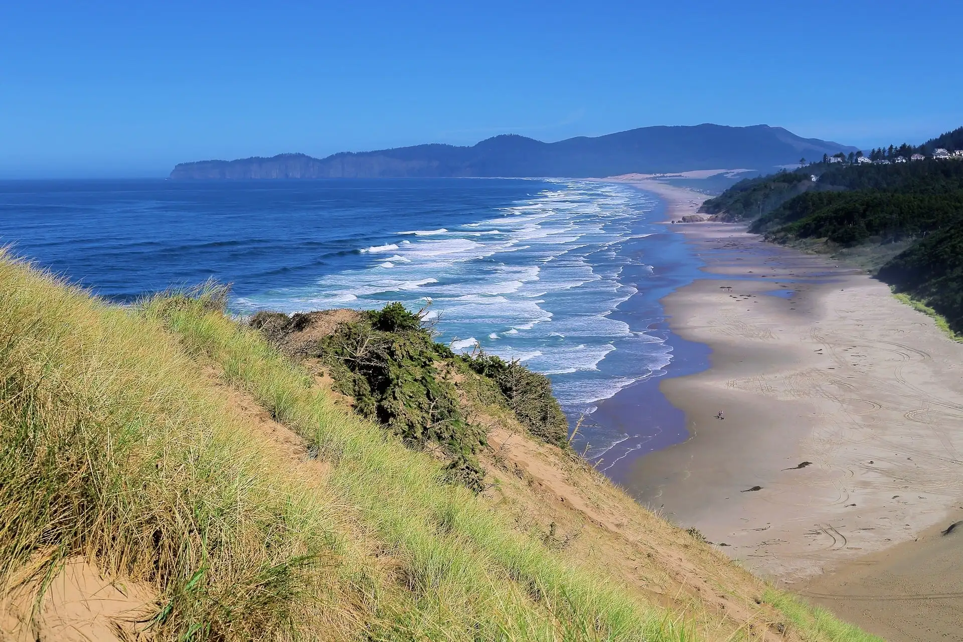
[[[502,402],[484,434],[541,463],[480,447],[486,490],[453,483],[436,440],[359,416],[223,294],[123,309],[0,257],[4,639],[82,629],[65,613],[117,640],[874,639],[516,437]],[[537,494],[562,487],[583,494]],[[138,607],[97,610],[78,584],[58,608],[77,564]]]

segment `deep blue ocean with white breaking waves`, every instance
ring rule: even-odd
[[[598,404],[672,360],[658,299],[698,262],[662,218],[561,179],[0,183],[0,243],[117,301],[214,277],[240,315],[429,306],[438,341],[548,374],[596,458],[647,429]]]

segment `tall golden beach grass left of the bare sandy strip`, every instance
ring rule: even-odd
[[[157,323],[0,257],[0,592],[81,557],[153,589],[161,639],[353,629],[335,501],[195,372]]]

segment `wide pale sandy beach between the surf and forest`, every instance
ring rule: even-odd
[[[672,219],[705,198],[634,184]],[[963,525],[941,533],[963,519],[963,345],[859,270],[672,228],[706,278],[665,310],[711,368],[662,382],[690,438],[638,459],[630,492],[887,639],[960,639]]]

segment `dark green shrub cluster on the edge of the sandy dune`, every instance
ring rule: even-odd
[[[299,320],[309,321],[311,314],[289,318],[259,312],[248,323],[283,348],[290,332],[303,329]],[[466,421],[455,384],[442,375],[440,364],[461,364],[481,374],[491,382],[485,386],[491,388],[486,403],[497,402],[513,411],[534,437],[569,448],[568,424],[548,377],[484,352],[476,357],[456,355],[435,343],[422,317],[402,303],[339,323],[315,345],[300,347],[299,355],[319,358],[335,389],[354,399],[358,414],[382,424],[411,448],[441,447],[452,480],[476,491],[483,488],[478,452],[486,443],[485,432]]]

